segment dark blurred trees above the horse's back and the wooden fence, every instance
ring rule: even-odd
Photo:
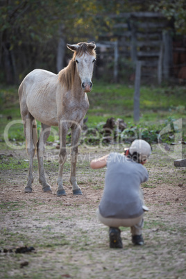
[[[37,67],[58,71],[59,50],[67,52],[62,66],[71,57],[67,42],[96,42],[124,13],[139,11],[161,12],[185,35],[185,0],[1,0],[0,82],[17,84]]]

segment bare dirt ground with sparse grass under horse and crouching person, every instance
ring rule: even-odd
[[[46,153],[44,164],[53,194],[42,192],[36,157],[33,193],[25,194],[26,151],[0,151],[1,278],[186,278],[186,169],[174,167],[175,146],[166,151],[154,145],[146,164],[144,246],[133,246],[130,228],[121,228],[124,248],[109,248],[108,228],[96,219],[105,169],[89,166],[92,158],[122,149],[80,146],[77,180],[83,195],[72,195],[68,157],[62,197],[56,196],[57,149]],[[35,250],[15,253],[22,246]]]

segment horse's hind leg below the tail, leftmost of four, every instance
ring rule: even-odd
[[[33,116],[28,112],[24,117],[24,135],[26,137],[26,150],[29,156],[29,169],[28,169],[28,180],[24,192],[32,192],[33,183],[33,157],[35,155],[35,145],[33,142],[33,123],[35,124]]]

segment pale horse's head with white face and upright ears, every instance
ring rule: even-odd
[[[78,44],[67,44],[68,49],[74,51],[74,62],[78,76],[81,79],[81,87],[84,92],[90,92],[92,89],[92,74],[94,61],[96,60],[96,44],[93,42],[80,42]]]

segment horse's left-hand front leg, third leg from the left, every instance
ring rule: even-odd
[[[65,196],[65,189],[62,185],[62,170],[65,161],[67,160],[67,151],[66,151],[66,136],[67,136],[68,127],[65,124],[65,121],[60,121],[59,123],[59,135],[60,135],[60,154],[59,154],[59,171],[58,171],[58,190],[57,196]]]

